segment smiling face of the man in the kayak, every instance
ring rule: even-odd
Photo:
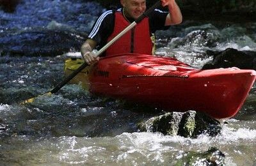
[[[146,0],[121,0],[124,12],[127,17],[138,19],[146,10]]]

